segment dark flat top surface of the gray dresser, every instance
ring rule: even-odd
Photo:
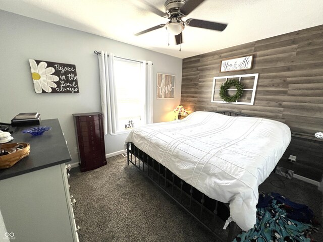
[[[39,136],[32,136],[31,134],[23,134],[21,131],[25,128],[37,126],[24,126],[17,127],[17,130],[11,134],[14,140],[9,143],[29,143],[30,154],[12,167],[0,169],[0,180],[72,160],[59,119],[41,120],[40,126],[49,126],[51,130]]]

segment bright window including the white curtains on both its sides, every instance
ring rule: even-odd
[[[152,62],[98,52],[104,134],[152,123]]]

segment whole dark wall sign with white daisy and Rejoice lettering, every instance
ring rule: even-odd
[[[79,93],[75,65],[29,59],[36,93]]]

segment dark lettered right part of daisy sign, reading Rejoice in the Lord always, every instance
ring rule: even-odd
[[[57,63],[54,68],[60,73],[60,83],[57,85],[56,91],[79,93],[75,65],[68,66],[68,64]]]

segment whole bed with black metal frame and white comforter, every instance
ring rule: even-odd
[[[214,233],[210,219],[201,221],[205,214],[223,220],[230,216],[242,230],[253,228],[258,186],[290,140],[289,127],[275,120],[196,111],[181,120],[133,129],[125,148],[128,164],[142,170]],[[232,226],[228,237],[230,233]]]

